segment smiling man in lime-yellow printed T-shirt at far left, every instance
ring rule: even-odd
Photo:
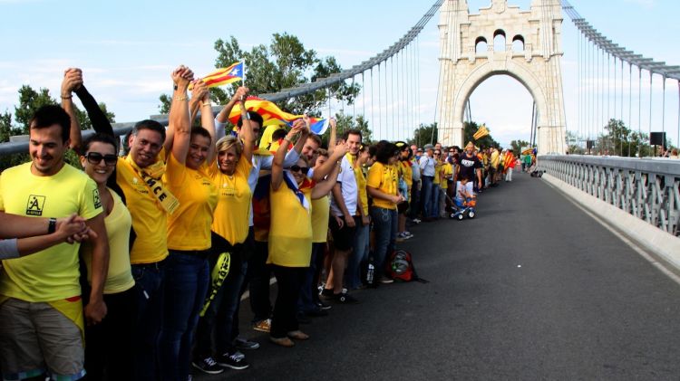
[[[67,97],[70,94],[62,94]],[[98,324],[106,315],[102,294],[109,246],[97,186],[63,161],[71,144],[70,129],[71,119],[59,106],[35,111],[30,121],[32,161],[0,176],[0,211],[52,218],[75,213],[87,220],[97,238],[92,240],[92,291],[84,318],[88,324]],[[60,243],[3,262],[0,367],[5,379],[17,375],[51,379],[84,376],[79,247]]]

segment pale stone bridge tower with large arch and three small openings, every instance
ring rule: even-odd
[[[467,0],[446,0],[439,22],[439,141],[462,147],[463,111],[472,91],[493,75],[507,74],[536,102],[539,154],[564,154],[561,27],[559,0],[532,0],[529,11],[492,0],[479,14],[470,14]],[[500,52],[493,49],[499,35],[505,40]],[[487,48],[479,51],[478,45]]]

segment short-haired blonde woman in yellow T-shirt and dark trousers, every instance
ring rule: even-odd
[[[245,369],[246,358],[237,354],[232,337],[233,325],[238,321],[239,295],[248,270],[248,214],[252,202],[252,192],[248,186],[248,176],[253,167],[253,148],[255,134],[247,116],[244,99],[247,88],[239,88],[241,106],[241,135],[243,142],[236,136],[220,138],[217,142],[216,157],[208,158],[208,174],[218,187],[218,205],[215,207],[212,222],[211,267],[215,266],[222,252],[229,253],[229,272],[208,309],[199,319],[196,346],[192,364],[209,374],[222,373],[224,367]],[[238,95],[238,94],[237,94]],[[207,115],[211,112],[204,110]],[[213,357],[213,342],[216,356]]]

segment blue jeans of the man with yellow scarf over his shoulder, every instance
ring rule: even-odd
[[[159,335],[163,320],[165,261],[133,264],[134,293],[137,298],[137,322],[132,338],[134,379],[160,379]]]

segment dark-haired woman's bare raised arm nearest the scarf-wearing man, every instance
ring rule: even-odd
[[[193,79],[193,71],[185,66],[172,71],[172,81],[175,83],[175,91],[172,94],[172,105],[168,118],[168,132],[165,139],[166,149],[170,148],[172,156],[185,164],[189,143],[191,140],[191,120],[189,120],[189,103],[187,88],[189,81]]]

